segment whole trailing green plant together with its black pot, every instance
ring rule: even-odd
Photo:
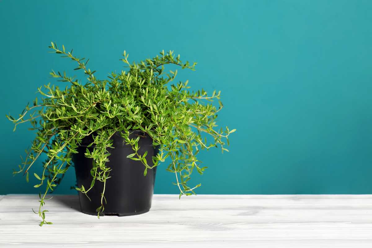
[[[98,80],[87,68],[89,59],[73,55],[62,45],[51,42],[52,52],[61,54],[77,63],[74,70],[82,70],[87,82],[81,82],[66,73],[52,71],[52,77],[67,82],[63,88],[51,84],[39,87],[42,95],[29,104],[15,118],[6,117],[16,126],[31,123],[36,138],[26,157],[13,173],[26,175],[35,161],[45,153],[47,160],[41,175],[33,173],[45,186],[39,193],[37,211],[43,224],[42,207],[47,193],[57,187],[64,173],[74,164],[81,210],[88,214],[135,215],[151,207],[156,168],[170,158],[166,170],[174,173],[175,185],[180,194],[195,194],[187,185],[193,170],[203,174],[207,167],[201,165],[196,155],[200,150],[217,147],[223,151],[228,136],[235,129],[215,129],[217,113],[222,103],[220,92],[208,96],[204,90],[189,91],[186,82],[167,85],[177,75],[164,71],[164,66],[174,64],[182,69],[195,70],[196,63],[183,63],[172,51],[140,63],[128,62],[124,51],[122,61],[127,71],[111,73],[105,80]],[[210,137],[209,142],[205,135]]]

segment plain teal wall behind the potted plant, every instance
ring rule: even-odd
[[[372,193],[372,1],[10,1],[0,0],[0,194],[38,193],[12,177],[35,134],[13,125],[74,64],[50,41],[90,58],[103,78],[162,49],[197,61],[180,71],[193,89],[222,91],[222,126],[236,128],[230,153],[200,153],[201,194]],[[36,172],[41,164],[34,165]],[[68,171],[57,193],[71,194]],[[158,168],[155,193],[177,193]]]

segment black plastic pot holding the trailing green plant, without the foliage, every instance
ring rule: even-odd
[[[147,151],[147,164],[152,166],[151,157],[156,156],[158,152],[158,149],[153,147],[153,140],[141,131],[131,132],[129,138],[140,136],[138,153],[144,154]],[[112,169],[109,175],[111,178],[106,181],[107,203],[104,203],[105,210],[100,215],[128,216],[146,213],[150,210],[153,198],[156,167],[148,170],[147,175],[144,176],[144,165],[140,161],[126,157],[134,152],[131,146],[125,145],[124,139],[118,133],[115,133],[112,139],[115,148],[108,149],[111,155],[108,157],[110,161],[106,163],[106,166]],[[92,159],[86,158],[84,153],[87,145],[92,142],[91,136],[84,138],[81,146],[77,148],[78,154],[73,155],[77,185],[78,187],[84,185],[85,189],[89,189],[92,181],[90,174]],[[88,149],[92,151],[93,146]],[[92,201],[89,201],[88,197],[79,191],[81,212],[97,215],[96,209],[101,205],[102,191],[103,183],[97,180],[87,193]]]

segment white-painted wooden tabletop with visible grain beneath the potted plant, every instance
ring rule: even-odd
[[[55,195],[0,196],[0,247],[372,247],[372,195],[154,195],[150,212],[97,219]]]

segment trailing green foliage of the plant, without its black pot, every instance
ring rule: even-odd
[[[174,64],[195,70],[196,63],[183,63],[180,55],[175,56],[173,51],[162,51],[160,56],[130,63],[124,51],[121,60],[128,71],[113,72],[107,79],[99,80],[94,76],[96,71],[87,67],[89,59],[76,57],[73,50],[67,51],[63,45],[58,48],[55,42],[51,42],[49,48],[76,62],[74,70],[82,70],[87,81],[83,83],[66,73],[52,70],[52,77],[68,85],[61,88],[49,83],[39,87],[40,100],[36,98],[32,105],[27,104],[18,117],[6,115],[15,124],[14,130],[24,122],[31,123],[30,129],[36,130],[36,138],[14,174],[23,172],[28,181],[32,165],[42,153],[47,155],[47,160],[42,162],[42,174],[33,173],[39,180],[33,187],[45,186],[44,193],[39,193],[39,209],[33,210],[42,219],[40,226],[52,224],[45,219],[48,210],[42,209],[47,193],[60,183],[71,166],[72,154],[77,153],[76,148],[88,135],[94,138],[91,144],[94,149],[91,152],[87,149],[85,153],[87,158],[93,159],[93,180],[90,185],[82,185],[76,190],[87,195],[96,181],[103,182],[101,204],[96,210],[98,218],[105,207],[105,190],[110,190],[105,187],[111,170],[106,162],[110,158],[107,148],[113,148],[110,138],[114,133],[119,132],[126,144],[132,146],[133,153],[127,157],[142,162],[144,175],[170,157],[166,170],[174,174],[179,197],[195,194],[194,190],[201,186],[187,184],[194,169],[203,174],[207,168],[196,157],[201,149],[220,146],[222,152],[228,151],[225,145],[229,145],[228,136],[235,129],[216,129],[217,113],[223,106],[220,101],[219,107],[211,103],[220,98],[220,92],[207,95],[204,90],[189,91],[188,81],[167,86],[176,77],[177,70],[165,72],[164,66]],[[129,138],[129,133],[137,129],[146,132],[153,139],[153,145],[159,146],[155,157],[149,158],[147,152],[138,152],[140,137]],[[211,142],[207,142],[205,135],[211,136]],[[151,160],[153,166],[148,165]]]

